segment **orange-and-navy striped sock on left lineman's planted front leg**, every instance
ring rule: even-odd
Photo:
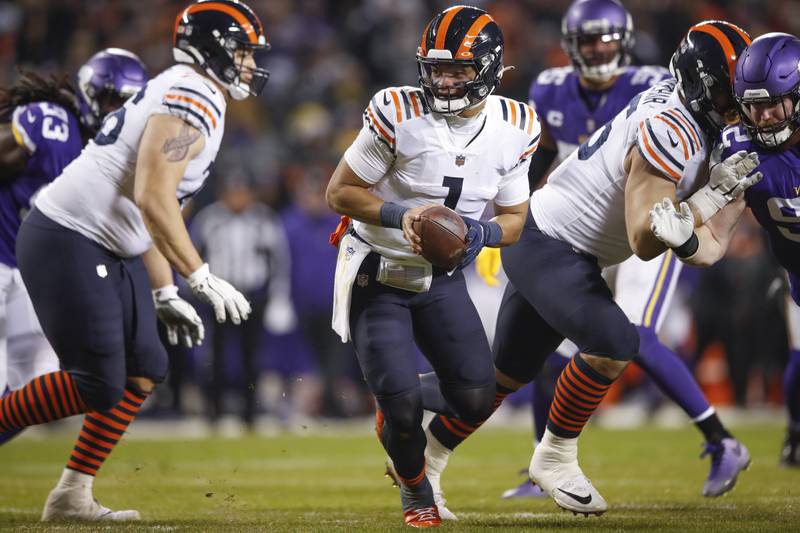
[[[86,413],[81,433],[67,462],[67,468],[90,476],[96,475],[114,450],[114,446],[125,434],[128,425],[136,418],[147,395],[148,393],[129,385],[125,388],[122,400],[108,411]]]

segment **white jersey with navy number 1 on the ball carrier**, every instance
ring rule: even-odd
[[[387,202],[444,204],[480,219],[487,202],[511,206],[528,199],[528,167],[540,132],[534,110],[509,98],[489,96],[480,114],[463,119],[431,112],[421,89],[390,87],[370,101],[344,159]],[[425,261],[402,230],[353,224],[378,253]]]

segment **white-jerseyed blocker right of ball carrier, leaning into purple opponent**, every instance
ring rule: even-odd
[[[709,145],[735,111],[734,61],[749,42],[727,22],[690,28],[671,61],[677,81],[640,93],[567,157],[531,196],[519,242],[502,252],[509,284],[493,346],[499,399],[536,377],[564,338],[580,351],[558,378],[529,467],[531,479],[564,509],[586,515],[607,509],[578,465],[578,436],[639,352],[639,333],[601,269],[634,253],[650,260],[665,251],[650,230],[653,198],[688,199],[707,220],[759,179],[748,176],[754,154],[734,154],[708,172]],[[459,426],[459,440],[476,429]],[[428,464],[441,467],[449,450],[433,448],[440,453],[429,453]],[[747,452],[736,451],[746,465]]]

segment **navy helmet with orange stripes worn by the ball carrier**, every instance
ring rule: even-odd
[[[425,27],[417,65],[420,86],[431,110],[461,113],[486,100],[500,84],[503,32],[491,15],[477,7],[445,9]],[[474,68],[475,77],[443,87],[441,72],[459,67]]]

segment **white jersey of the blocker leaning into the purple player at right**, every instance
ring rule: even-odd
[[[625,230],[628,151],[636,146],[683,200],[708,178],[710,144],[675,80],[662,81],[564,160],[531,196],[531,212],[545,234],[595,256],[601,267],[621,263],[633,254]]]

